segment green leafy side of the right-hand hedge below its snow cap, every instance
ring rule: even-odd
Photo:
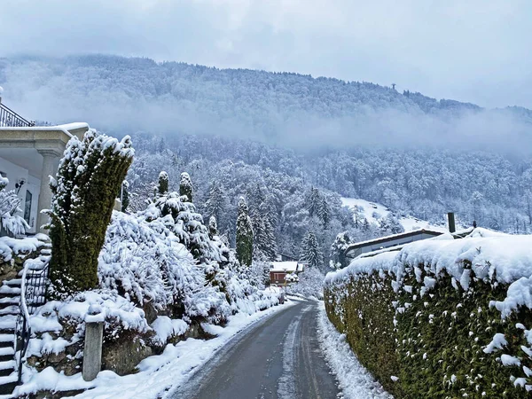
[[[396,398],[529,397],[532,310],[501,317],[494,304],[505,301],[510,284],[495,273],[475,277],[465,260],[458,267],[471,276],[465,287],[426,263],[329,279],[327,314]]]

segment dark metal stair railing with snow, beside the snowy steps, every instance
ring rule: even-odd
[[[40,263],[40,264],[39,264]],[[38,265],[35,267],[35,265]],[[33,267],[32,267],[33,266]],[[25,262],[20,284],[20,312],[17,317],[16,344],[19,383],[22,380],[22,364],[26,360],[27,347],[31,338],[30,317],[35,309],[46,303],[48,289],[48,262],[41,257]]]

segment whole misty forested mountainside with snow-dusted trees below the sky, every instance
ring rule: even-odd
[[[488,110],[369,82],[217,69],[152,59],[0,59],[4,102],[29,119],[89,121],[137,149],[130,207],[161,170],[192,176],[198,207],[234,241],[244,195],[256,254],[301,254],[317,236],[326,263],[337,233],[365,239],[399,215],[509,232],[532,230],[532,113]],[[353,220],[340,195],[392,215]],[[196,201],[196,200],[195,200]],[[388,219],[388,220],[386,220]],[[395,226],[395,227],[394,227]],[[265,254],[268,255],[268,254]]]

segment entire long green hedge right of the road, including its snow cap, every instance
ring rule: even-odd
[[[477,229],[352,262],[327,313],[395,397],[528,397],[532,236]]]

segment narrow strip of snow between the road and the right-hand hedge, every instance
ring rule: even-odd
[[[320,302],[317,313],[317,340],[325,354],[325,361],[338,380],[345,399],[393,399],[368,372],[349,348],[345,335],[327,318],[325,304]]]

